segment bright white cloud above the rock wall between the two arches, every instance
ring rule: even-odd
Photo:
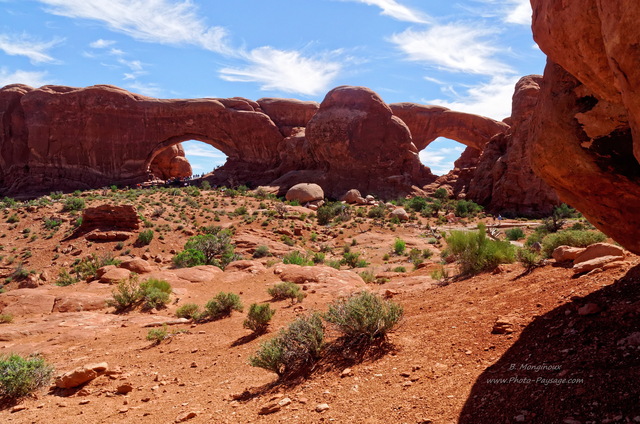
[[[226,81],[257,82],[261,90],[317,95],[329,88],[342,69],[329,57],[308,58],[298,51],[269,46],[240,54],[247,66],[223,68],[220,77]]]

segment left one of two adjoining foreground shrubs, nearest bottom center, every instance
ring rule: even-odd
[[[322,317],[314,313],[296,319],[277,336],[262,343],[249,358],[249,363],[280,377],[296,374],[313,365],[320,358],[323,347]]]

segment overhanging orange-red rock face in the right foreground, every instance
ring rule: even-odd
[[[531,160],[560,199],[640,253],[640,9],[633,0],[533,0],[548,55]]]

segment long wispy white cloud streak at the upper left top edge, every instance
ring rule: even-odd
[[[38,0],[50,13],[102,22],[137,40],[169,45],[191,44],[214,52],[227,50],[221,27],[208,27],[192,1]]]

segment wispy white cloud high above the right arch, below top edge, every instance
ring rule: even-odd
[[[425,31],[407,29],[391,36],[390,41],[409,60],[444,70],[482,75],[512,73],[508,65],[495,58],[501,50],[495,40],[487,38],[495,32],[480,26],[449,23]]]

